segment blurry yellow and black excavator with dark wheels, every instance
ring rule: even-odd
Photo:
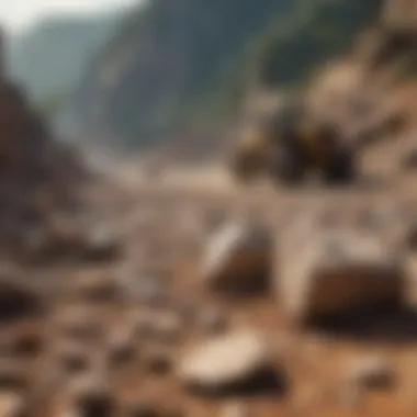
[[[354,151],[337,129],[315,119],[301,101],[268,116],[234,149],[232,173],[240,182],[269,176],[284,184],[315,172],[325,183],[349,183],[356,177]]]

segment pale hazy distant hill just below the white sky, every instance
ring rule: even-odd
[[[112,15],[50,16],[11,40],[10,71],[36,101],[67,93],[113,35]]]

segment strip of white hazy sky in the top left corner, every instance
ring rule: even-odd
[[[0,23],[15,32],[49,13],[89,13],[136,2],[138,0],[0,0]]]

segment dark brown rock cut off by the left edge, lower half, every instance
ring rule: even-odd
[[[45,312],[40,292],[15,277],[0,279],[0,322],[34,318]]]

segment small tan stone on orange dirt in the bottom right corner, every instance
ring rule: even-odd
[[[375,356],[353,362],[347,380],[361,388],[391,388],[395,384],[396,374],[387,360]]]

